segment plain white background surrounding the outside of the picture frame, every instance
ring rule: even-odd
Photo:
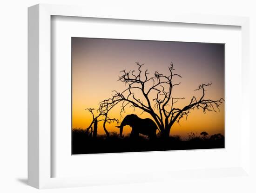
[[[27,7],[37,3],[73,4],[122,7],[131,12],[152,10],[185,13],[238,15],[250,17],[251,82],[256,73],[256,5],[254,0],[2,0],[0,2],[0,192],[37,192],[27,184]],[[251,98],[255,98],[255,84],[251,84]],[[254,88],[253,88],[254,87]],[[255,103],[252,103],[255,109]],[[252,112],[252,110],[251,110]],[[253,113],[253,112],[252,112]],[[255,114],[255,113],[254,113]],[[253,123],[253,122],[252,122]],[[256,136],[253,131],[251,135]],[[212,186],[204,179],[184,184],[150,183],[118,186],[82,187],[44,190],[44,192],[253,192],[246,182],[234,178],[230,186],[222,180],[213,179]],[[224,186],[224,188],[220,187]],[[175,187],[175,190],[173,189]],[[179,188],[180,187],[180,188]]]

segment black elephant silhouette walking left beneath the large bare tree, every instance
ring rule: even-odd
[[[149,118],[141,119],[135,114],[127,115],[124,117],[120,126],[116,126],[120,128],[120,136],[122,137],[123,127],[129,125],[132,128],[130,133],[130,138],[137,137],[139,134],[147,135],[149,139],[156,137],[156,129],[157,126],[154,121]]]

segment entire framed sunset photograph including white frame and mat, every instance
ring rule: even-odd
[[[113,10],[28,8],[28,184],[252,180],[249,19]]]

